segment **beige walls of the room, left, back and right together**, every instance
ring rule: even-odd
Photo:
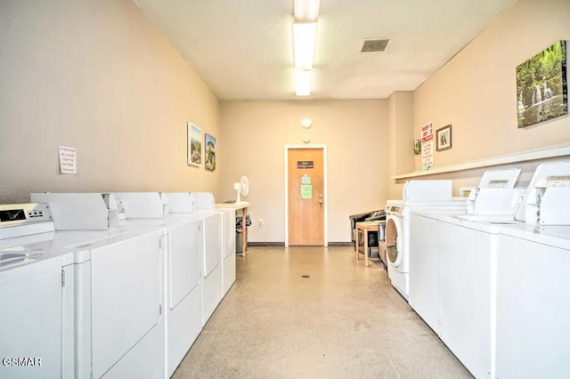
[[[348,215],[399,198],[419,170],[419,128],[452,124],[435,164],[570,141],[570,117],[517,129],[515,68],[570,39],[570,2],[518,0],[413,94],[370,101],[231,101],[221,105],[130,0],[0,2],[0,203],[32,191],[190,190],[233,198],[249,177],[250,240],[284,240],[283,146],[326,144],[329,240],[348,241]],[[302,117],[312,117],[308,131]],[[216,172],[186,165],[186,123],[217,137]],[[61,175],[58,145],[77,148]],[[532,171],[535,162],[522,165]],[[483,170],[452,178],[454,192]],[[259,218],[265,220],[258,226]]]

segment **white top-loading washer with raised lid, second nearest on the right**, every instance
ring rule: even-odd
[[[437,325],[441,340],[476,377],[496,377],[499,231],[514,218],[527,189],[520,169],[489,170],[468,198],[468,214],[437,223]],[[507,375],[509,377],[509,375]]]

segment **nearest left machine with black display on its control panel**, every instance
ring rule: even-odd
[[[47,205],[0,206],[0,377],[73,378],[73,259]]]

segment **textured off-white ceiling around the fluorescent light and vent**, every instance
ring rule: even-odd
[[[321,0],[308,97],[293,0],[135,0],[219,100],[385,99],[413,91],[516,0]],[[384,52],[364,39],[389,38]]]

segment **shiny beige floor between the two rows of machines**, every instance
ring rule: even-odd
[[[364,267],[352,246],[238,254],[235,284],[173,375],[470,377],[390,285],[381,263]]]

